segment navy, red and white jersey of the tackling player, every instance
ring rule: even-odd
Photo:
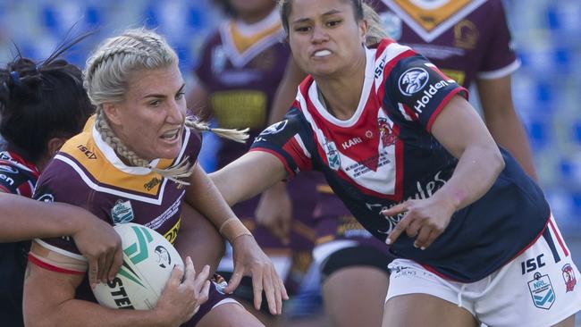
[[[365,81],[349,120],[324,108],[309,76],[286,120],[263,131],[252,150],[276,155],[291,177],[324,172],[366,230],[385,240],[402,215],[380,212],[409,198],[431,197],[458,164],[431,134],[438,113],[456,95],[467,96],[467,90],[408,46],[385,39],[366,49]],[[477,281],[530,244],[543,231],[549,207],[514,159],[502,154],[506,168],[492,189],[454,214],[431,247],[421,251],[402,235],[392,252],[451,279]]]

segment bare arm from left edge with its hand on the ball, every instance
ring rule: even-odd
[[[122,265],[121,239],[113,228],[78,206],[44,203],[0,191],[1,242],[72,236],[87,257],[91,285],[111,280]]]

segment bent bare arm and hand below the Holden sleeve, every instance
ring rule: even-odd
[[[383,211],[387,216],[405,213],[388,236],[388,244],[406,231],[416,238],[416,247],[428,247],[446,229],[451,215],[483,197],[504,168],[484,122],[460,96],[454,96],[438,114],[432,134],[459,162],[450,180],[432,197],[408,200]]]

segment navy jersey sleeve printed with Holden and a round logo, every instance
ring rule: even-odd
[[[386,77],[383,106],[392,116],[418,122],[430,132],[438,113],[456,94],[468,96],[466,88],[416,54],[400,59]]]

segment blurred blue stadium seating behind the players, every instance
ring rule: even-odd
[[[505,1],[522,67],[513,74],[514,103],[535,153],[552,211],[581,259],[581,1]],[[156,28],[177,49],[184,79],[220,13],[211,0],[0,0],[0,62],[13,55],[41,60],[63,41],[94,30],[67,53],[84,66],[105,37],[129,27]]]

